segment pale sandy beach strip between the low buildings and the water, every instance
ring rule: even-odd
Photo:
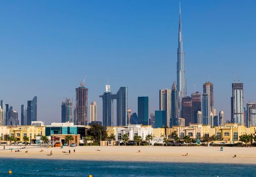
[[[13,152],[10,148],[14,149]],[[3,149],[0,146],[0,158],[256,164],[256,148],[246,147],[224,147],[224,151],[220,151],[220,147],[159,146],[80,146],[63,149],[27,146],[22,152],[15,152],[16,149],[20,150],[20,146],[6,146],[6,150]],[[69,150],[70,154],[62,152]],[[53,152],[52,156],[50,151]],[[188,156],[184,156],[186,153]],[[233,157],[235,154],[236,158]]]

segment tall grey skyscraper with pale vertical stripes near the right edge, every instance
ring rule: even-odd
[[[231,122],[244,124],[243,83],[232,83]]]

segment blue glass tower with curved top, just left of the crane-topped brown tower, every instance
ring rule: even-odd
[[[73,102],[71,99],[66,98],[61,103],[61,122],[73,122]]]

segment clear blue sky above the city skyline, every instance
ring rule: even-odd
[[[210,78],[217,112],[230,119],[231,83],[256,101],[256,1],[182,0],[188,95]],[[61,121],[61,101],[75,99],[87,76],[89,102],[128,87],[128,105],[176,80],[179,1],[1,1],[0,99],[20,113],[37,96],[38,120]],[[20,114],[19,114],[20,118]]]

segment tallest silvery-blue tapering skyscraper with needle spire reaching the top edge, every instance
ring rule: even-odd
[[[185,53],[183,50],[182,25],[181,25],[181,3],[180,3],[180,20],[178,33],[178,49],[177,49],[177,90],[179,97],[179,116],[182,111],[182,98],[186,97],[186,77],[185,77]]]

